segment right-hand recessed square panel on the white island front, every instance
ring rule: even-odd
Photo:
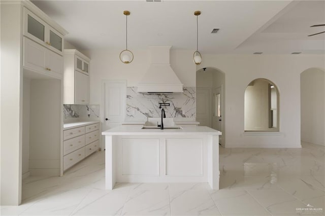
[[[166,175],[203,176],[204,152],[202,138],[166,139]]]

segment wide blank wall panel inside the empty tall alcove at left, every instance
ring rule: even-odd
[[[30,175],[59,175],[61,81],[30,82]]]

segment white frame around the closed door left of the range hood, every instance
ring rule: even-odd
[[[101,95],[101,129],[102,132],[105,130],[105,112],[104,112],[104,107],[105,107],[105,85],[113,84],[113,83],[119,83],[119,84],[124,84],[125,88],[127,88],[127,80],[102,80],[102,95]],[[122,110],[122,115],[125,116],[126,113],[126,97],[125,100],[123,101],[123,107],[124,109]],[[105,147],[105,138],[102,139],[101,141],[101,149],[103,150],[102,147]]]

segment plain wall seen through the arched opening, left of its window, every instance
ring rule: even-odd
[[[269,130],[269,82],[254,80],[245,90],[245,130]]]

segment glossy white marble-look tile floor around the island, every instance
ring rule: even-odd
[[[105,189],[105,151],[61,177],[29,176],[22,204],[1,215],[324,215],[325,147],[219,148],[220,190],[208,183],[117,183]],[[322,211],[301,212],[314,206]]]

